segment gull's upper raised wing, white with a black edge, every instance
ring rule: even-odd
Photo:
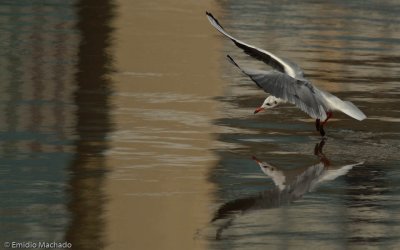
[[[212,26],[214,26],[223,35],[225,35],[226,37],[231,39],[235,43],[235,45],[238,46],[239,48],[243,49],[243,51],[246,54],[265,62],[266,64],[270,65],[274,69],[276,69],[282,73],[288,74],[289,76],[291,76],[293,78],[303,79],[303,71],[297,64],[295,64],[293,62],[285,61],[268,51],[259,49],[257,47],[246,44],[246,43],[234,38],[233,36],[226,33],[224,28],[222,28],[221,24],[211,13],[206,12],[206,14],[207,14],[207,18],[210,21],[210,23],[212,24]]]

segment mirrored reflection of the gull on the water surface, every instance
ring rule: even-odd
[[[315,146],[314,154],[319,157],[319,162],[300,170],[283,170],[253,156],[261,170],[272,178],[276,188],[223,204],[212,219],[212,222],[227,219],[218,227],[216,238],[220,239],[222,231],[232,224],[237,215],[252,210],[269,209],[290,204],[301,199],[307,192],[313,191],[321,183],[345,175],[354,166],[362,164],[360,162],[341,167],[330,166],[330,161],[322,152],[324,144],[325,140],[322,140]]]

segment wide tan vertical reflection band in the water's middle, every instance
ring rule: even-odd
[[[210,2],[118,1],[106,213],[110,249],[203,249],[220,95]],[[135,13],[134,15],[132,13]]]

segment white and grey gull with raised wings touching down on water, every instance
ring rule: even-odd
[[[237,47],[273,68],[270,71],[242,68],[231,56],[227,55],[233,65],[250,77],[259,88],[270,94],[263,104],[254,111],[254,114],[275,108],[283,103],[291,103],[315,119],[315,127],[322,136],[325,136],[323,126],[332,117],[333,111],[341,111],[359,121],[366,118],[365,114],[353,103],[342,101],[338,97],[315,87],[304,78],[304,72],[297,64],[234,38],[224,30],[210,12],[206,12],[206,15],[212,26],[232,40]]]

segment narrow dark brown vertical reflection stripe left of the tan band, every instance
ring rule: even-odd
[[[103,249],[104,182],[109,168],[104,152],[112,131],[110,95],[112,83],[111,47],[115,6],[113,1],[81,0],[77,8],[77,29],[81,39],[75,82],[76,153],[69,172],[68,209],[71,214],[65,239],[74,249]]]

